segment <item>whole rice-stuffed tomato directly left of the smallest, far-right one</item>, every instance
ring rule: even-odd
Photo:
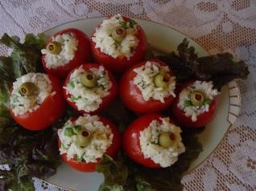
[[[159,60],[142,62],[131,67],[122,76],[122,102],[138,114],[167,109],[175,97],[175,76]]]

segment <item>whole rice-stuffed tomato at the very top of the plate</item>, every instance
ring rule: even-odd
[[[141,61],[147,51],[147,38],[134,20],[114,15],[105,19],[91,39],[93,58],[110,71],[122,72]]]

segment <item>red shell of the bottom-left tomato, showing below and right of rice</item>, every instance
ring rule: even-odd
[[[116,154],[118,153],[119,148],[121,147],[121,135],[118,132],[118,128],[115,127],[115,125],[109,121],[108,119],[106,119],[105,117],[100,117],[100,121],[104,124],[104,125],[109,125],[109,128],[111,128],[111,131],[113,133],[113,140],[112,140],[112,144],[109,146],[109,148],[107,148],[105,154],[114,157],[116,156]],[[59,140],[59,147],[61,145],[61,142]],[[68,166],[72,167],[73,169],[76,169],[78,171],[81,172],[85,172],[85,173],[91,173],[95,171],[96,165],[101,161],[101,159],[97,159],[97,162],[79,162],[76,161],[76,158],[73,158],[71,160],[68,160],[67,158],[67,154],[62,154],[61,155],[62,160],[64,161],[64,163],[66,163]]]

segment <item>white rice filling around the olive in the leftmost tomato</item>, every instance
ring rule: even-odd
[[[38,95],[22,95],[20,87],[23,83],[35,83],[38,87]],[[10,95],[10,107],[14,112],[14,116],[21,116],[27,112],[34,112],[43,103],[43,100],[51,95],[52,82],[46,74],[43,73],[28,73],[16,79],[13,83],[13,91]],[[56,92],[52,92],[54,95]]]

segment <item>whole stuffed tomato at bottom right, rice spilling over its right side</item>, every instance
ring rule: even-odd
[[[173,165],[185,151],[180,128],[159,114],[139,116],[124,132],[123,147],[140,165],[161,168]]]

